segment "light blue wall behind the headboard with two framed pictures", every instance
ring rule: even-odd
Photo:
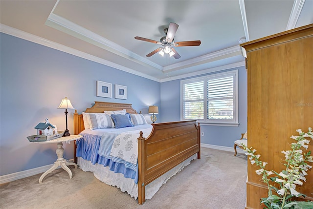
[[[160,83],[94,63],[33,42],[0,33],[0,175],[53,164],[56,144],[36,144],[27,136],[49,118],[65,130],[65,113],[57,109],[67,96],[81,113],[94,101],[133,104],[147,114],[160,105]],[[128,86],[127,100],[96,96],[96,81]],[[114,87],[113,87],[114,92]],[[68,129],[73,133],[73,110]],[[160,117],[158,117],[160,118]],[[73,143],[64,145],[72,159]]]

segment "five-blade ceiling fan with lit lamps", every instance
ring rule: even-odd
[[[171,22],[169,27],[164,29],[165,36],[163,36],[159,42],[151,40],[151,39],[142,38],[139,36],[136,36],[135,39],[162,45],[162,47],[159,47],[156,50],[152,51],[151,53],[147,54],[146,57],[151,57],[152,55],[158,52],[162,56],[164,56],[164,53],[166,53],[166,54],[169,54],[170,56],[174,56],[175,59],[179,59],[181,56],[179,55],[179,53],[175,50],[173,46],[175,47],[199,46],[201,44],[201,41],[175,42],[174,36],[176,34],[178,27],[179,27],[178,24]]]

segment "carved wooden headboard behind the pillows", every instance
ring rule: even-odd
[[[122,104],[122,103],[108,103],[108,102],[94,102],[95,104],[87,108],[84,112],[89,113],[104,113],[104,111],[114,111],[126,109],[126,112],[131,114],[138,114],[136,110],[133,109],[132,104]],[[83,115],[78,114],[75,109],[74,113],[74,134],[79,134],[85,129]]]

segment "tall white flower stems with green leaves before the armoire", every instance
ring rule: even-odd
[[[306,177],[309,169],[312,166],[308,163],[313,163],[313,157],[311,156],[311,151],[304,152],[303,149],[308,149],[310,140],[306,138],[313,139],[312,128],[309,127],[307,133],[302,132],[301,129],[296,130],[299,136],[291,136],[296,142],[291,143],[291,150],[282,151],[285,154],[284,164],[286,166],[285,170],[277,173],[274,170],[266,170],[265,167],[268,164],[260,160],[260,154],[256,154],[256,149],[252,147],[247,148],[242,144],[244,149],[247,151],[246,155],[249,156],[250,163],[260,167],[255,172],[258,175],[262,175],[262,180],[268,186],[268,197],[261,198],[261,204],[266,206],[266,209],[313,209],[312,201],[294,201],[292,197],[303,196],[296,190],[296,185],[303,185],[303,181],[306,181]],[[276,174],[276,176],[271,175]],[[279,188],[270,185],[271,182],[277,183]],[[273,194],[273,190],[277,193]]]

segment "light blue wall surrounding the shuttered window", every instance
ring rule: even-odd
[[[233,147],[234,141],[241,137],[241,133],[246,132],[247,129],[246,69],[245,67],[239,67],[229,70],[234,69],[239,70],[238,105],[239,105],[240,125],[238,127],[201,125],[201,132],[204,132],[204,136],[201,136],[201,143],[203,144]],[[219,71],[219,73],[229,70]],[[201,76],[208,74],[203,74]],[[161,83],[161,111],[159,112],[161,112],[162,115],[161,122],[180,120],[180,80]]]

